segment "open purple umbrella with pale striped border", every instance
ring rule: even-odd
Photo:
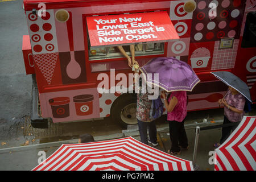
[[[141,72],[147,75],[147,82],[172,92],[177,90],[192,91],[200,82],[193,69],[184,61],[174,57],[156,57],[141,67]],[[148,73],[152,73],[148,75]],[[154,73],[159,73],[156,81]]]

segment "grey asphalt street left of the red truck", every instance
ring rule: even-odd
[[[26,75],[23,63],[22,35],[27,35],[28,30],[22,2],[0,2],[1,146],[2,142],[17,146],[27,140],[22,127],[30,115],[32,78]]]

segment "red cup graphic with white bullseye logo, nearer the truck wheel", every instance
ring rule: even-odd
[[[73,97],[77,115],[89,115],[93,113],[93,95],[84,94]]]

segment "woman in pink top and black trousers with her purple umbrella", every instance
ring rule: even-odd
[[[170,127],[170,139],[172,147],[169,154],[180,154],[181,148],[188,150],[188,139],[184,129],[184,119],[187,115],[187,92],[200,82],[199,77],[190,65],[174,57],[156,57],[143,65],[141,71],[147,76],[147,82],[152,83],[164,91],[170,93],[166,98],[166,92],[162,92],[164,105],[167,109],[167,120]],[[155,80],[154,74],[158,73],[159,78]]]

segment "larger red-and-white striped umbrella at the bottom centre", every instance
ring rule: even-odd
[[[192,162],[127,137],[101,142],[63,144],[32,170],[192,171]]]

